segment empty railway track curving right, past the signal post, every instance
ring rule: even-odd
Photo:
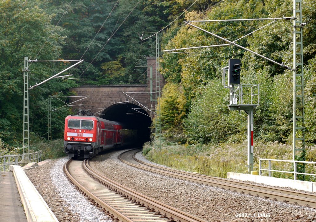
[[[315,194],[268,187],[253,183],[237,182],[219,177],[209,177],[197,173],[173,170],[170,168],[152,165],[138,160],[135,158],[135,154],[137,152],[139,152],[139,149],[126,151],[119,156],[119,159],[122,162],[134,166],[138,169],[158,173],[172,178],[178,178],[189,182],[219,187],[253,196],[269,198],[275,201],[283,201],[296,205],[298,204],[301,206],[316,208]]]

